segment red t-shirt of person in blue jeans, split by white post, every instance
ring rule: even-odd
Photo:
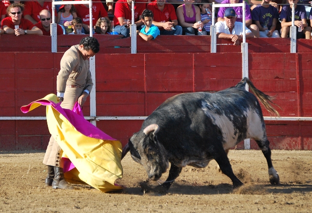
[[[123,3],[122,3],[123,2]],[[142,15],[143,10],[146,8],[146,2],[144,1],[135,1],[135,22],[139,21],[139,16]],[[120,25],[118,18],[124,17],[125,19],[131,18],[131,6],[129,6],[127,0],[118,0],[115,4],[115,11],[114,11],[114,23],[115,26]]]

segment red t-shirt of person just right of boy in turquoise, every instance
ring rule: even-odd
[[[151,10],[154,14],[154,21],[167,22],[177,20],[176,10],[172,4],[165,4],[162,11],[158,9],[157,2],[152,1],[147,5],[147,9]],[[163,30],[163,27],[159,27],[159,30]]]

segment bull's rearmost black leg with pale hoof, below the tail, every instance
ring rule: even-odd
[[[271,149],[269,147],[270,142],[269,140],[266,138],[265,140],[261,141],[261,140],[256,140],[259,148],[262,150],[262,153],[264,155],[264,157],[267,159],[268,162],[268,167],[269,167],[269,178],[270,178],[270,183],[272,185],[277,185],[279,184],[279,176],[276,172],[276,170],[273,167],[272,164],[272,159],[271,159]]]

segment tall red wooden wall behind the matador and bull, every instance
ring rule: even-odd
[[[2,39],[2,36],[1,36]],[[229,45],[226,45],[229,46]],[[56,92],[63,53],[0,52],[0,116],[45,116],[45,107],[23,114],[27,105]],[[312,53],[250,53],[254,85],[282,107],[281,116],[312,117]],[[242,77],[241,53],[150,53],[96,56],[98,116],[147,116],[167,98],[182,92],[217,91]],[[89,100],[84,114],[90,113]],[[269,113],[263,110],[265,116]],[[98,121],[123,145],[140,129],[139,121]],[[267,121],[273,149],[312,150],[312,122]],[[0,150],[46,149],[46,121],[0,120]],[[258,149],[255,142],[252,149]],[[240,143],[237,149],[243,149]]]

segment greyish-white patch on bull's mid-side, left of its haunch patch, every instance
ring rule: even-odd
[[[235,135],[235,129],[232,121],[224,114],[218,115],[213,110],[210,109],[207,102],[202,101],[202,110],[204,113],[211,118],[213,124],[215,124],[222,132],[223,137],[223,148],[230,149],[236,145],[238,132]],[[210,105],[211,106],[211,105]],[[231,115],[233,120],[233,115]]]

